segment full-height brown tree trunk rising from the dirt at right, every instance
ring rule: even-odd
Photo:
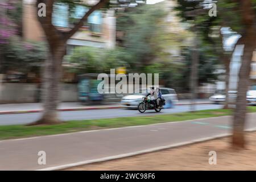
[[[250,82],[251,60],[256,48],[255,10],[251,0],[240,0],[239,7],[244,27],[244,48],[237,88],[237,102],[233,118],[232,146],[245,148],[246,93]]]

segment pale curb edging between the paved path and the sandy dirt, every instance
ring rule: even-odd
[[[247,132],[256,131],[256,128],[247,129],[245,131],[247,131]],[[218,138],[223,138],[223,137],[230,137],[230,136],[232,136],[232,134],[214,135],[213,137],[206,137],[206,138],[201,138],[201,139],[195,139],[195,140],[191,140],[191,141],[188,141],[188,142],[181,142],[181,143],[170,144],[170,145],[167,145],[167,146],[148,148],[146,150],[130,152],[130,153],[120,154],[120,155],[114,155],[114,156],[109,156],[109,157],[100,158],[100,159],[85,160],[85,161],[82,161],[82,162],[71,163],[71,164],[64,164],[64,165],[61,165],[61,166],[42,168],[42,169],[37,169],[36,171],[55,171],[55,170],[67,169],[67,168],[71,168],[71,167],[83,166],[85,164],[106,162],[106,161],[109,161],[109,160],[127,158],[127,157],[130,157],[130,156],[147,154],[147,153],[150,153],[150,152],[156,152],[156,151],[166,150],[166,149],[175,148],[175,147],[182,147],[182,146],[187,146],[188,144],[206,142],[208,140],[213,140],[213,139],[218,139]]]

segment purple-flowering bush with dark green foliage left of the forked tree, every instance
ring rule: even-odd
[[[0,2],[0,73],[36,72],[46,59],[44,43],[25,42],[19,36],[17,24],[22,17],[19,6],[18,0]]]

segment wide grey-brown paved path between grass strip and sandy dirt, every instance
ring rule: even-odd
[[[255,129],[255,117],[256,113],[248,114],[246,129]],[[163,149],[180,143],[209,139],[216,135],[228,135],[231,121],[232,117],[225,116],[1,140],[0,170],[56,169],[81,165],[92,160],[113,159],[117,156]],[[39,151],[46,152],[46,165],[38,164]],[[208,163],[208,152],[206,155],[205,163]]]

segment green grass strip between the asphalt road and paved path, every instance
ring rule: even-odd
[[[256,112],[256,107],[249,106],[249,112]],[[9,125],[0,126],[0,139],[35,137],[40,135],[53,135],[61,133],[71,133],[75,131],[108,129],[124,126],[150,125],[153,123],[178,122],[189,119],[220,117],[231,114],[232,110],[212,109],[175,114],[156,114],[141,117],[86,119],[82,121],[63,122],[59,125]]]

